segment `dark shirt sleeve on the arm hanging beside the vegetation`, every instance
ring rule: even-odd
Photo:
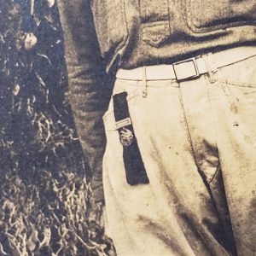
[[[108,78],[90,10],[89,0],[59,0],[64,35],[70,102],[85,159],[93,175],[95,200],[103,200],[102,155],[105,133],[102,114],[109,102]]]

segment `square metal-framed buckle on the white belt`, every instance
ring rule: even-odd
[[[177,81],[195,79],[200,76],[195,58],[174,62],[172,67]]]

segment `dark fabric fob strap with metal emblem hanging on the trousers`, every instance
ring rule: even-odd
[[[143,159],[137,145],[137,138],[131,124],[126,97],[126,91],[113,95],[113,112],[116,127],[119,131],[120,143],[123,145],[126,180],[130,185],[149,183]]]

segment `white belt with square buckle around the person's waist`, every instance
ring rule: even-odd
[[[254,55],[256,55],[256,47],[238,47],[178,61],[170,65],[119,69],[116,73],[116,78],[143,80],[144,76],[146,76],[147,80],[177,79],[177,81],[182,81],[195,79],[201,74],[216,72],[220,67],[243,61]]]

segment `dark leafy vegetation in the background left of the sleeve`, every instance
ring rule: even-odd
[[[115,255],[97,223],[54,0],[0,0],[0,255]]]

